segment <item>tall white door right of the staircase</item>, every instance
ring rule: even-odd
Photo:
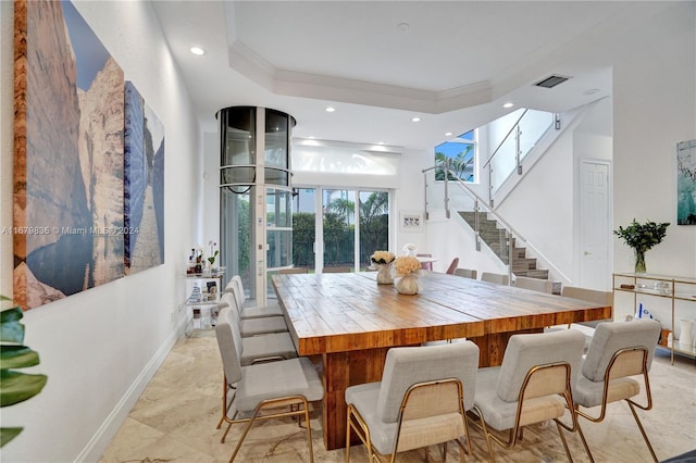
[[[580,230],[580,286],[608,290],[611,225],[607,162],[581,160]]]

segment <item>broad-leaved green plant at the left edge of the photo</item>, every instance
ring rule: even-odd
[[[10,298],[0,296],[0,300]],[[39,354],[26,346],[24,341],[24,316],[22,309],[13,306],[0,312],[0,406],[10,406],[33,398],[44,389],[46,375],[29,375],[14,368],[26,368],[39,364]],[[0,447],[14,439],[22,427],[0,428]]]

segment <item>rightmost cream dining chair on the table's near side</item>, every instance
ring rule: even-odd
[[[573,400],[577,415],[594,423],[604,421],[607,404],[625,400],[635,418],[638,429],[648,446],[654,461],[658,461],[641,420],[635,411],[650,410],[652,396],[648,371],[652,363],[655,347],[660,337],[660,322],[655,320],[637,320],[633,322],[606,322],[597,325],[592,338],[587,355],[582,365],[582,374],[573,385]],[[645,386],[644,404],[633,400],[641,393],[641,384],[630,376],[642,376]],[[599,406],[598,414],[589,414],[580,408]],[[580,436],[587,454],[591,455],[585,436]]]

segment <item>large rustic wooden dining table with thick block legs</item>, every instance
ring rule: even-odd
[[[418,281],[407,296],[376,272],[272,277],[298,354],[321,363],[327,450],[346,446],[346,388],[380,381],[390,348],[467,338],[493,366],[510,336],[612,316],[610,305],[456,275],[420,271]]]

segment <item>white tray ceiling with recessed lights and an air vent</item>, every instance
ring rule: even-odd
[[[410,149],[511,111],[506,101],[561,112],[611,95],[613,60],[664,3],[152,2],[204,132],[222,108],[259,105],[295,116],[296,137]],[[550,74],[572,78],[533,86]]]

